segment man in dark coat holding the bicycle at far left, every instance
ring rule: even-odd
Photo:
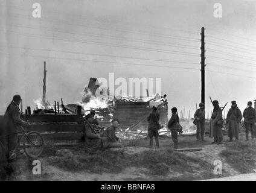
[[[14,151],[16,144],[18,143],[18,132],[20,127],[29,127],[30,123],[23,121],[19,112],[19,104],[21,103],[21,96],[14,95],[13,100],[8,105],[4,118],[2,120],[1,135],[5,137],[1,139],[2,144],[8,150],[6,157],[8,160],[15,159],[17,152]]]

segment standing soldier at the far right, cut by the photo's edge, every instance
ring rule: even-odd
[[[243,117],[245,118],[245,134],[246,141],[249,140],[249,131],[251,131],[252,139],[254,139],[255,131],[254,131],[254,122],[256,121],[256,112],[255,109],[252,108],[252,102],[248,102],[248,108],[243,111]]]

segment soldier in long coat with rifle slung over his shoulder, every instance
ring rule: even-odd
[[[214,141],[211,144],[222,144],[222,125],[222,109],[220,109],[219,102],[217,100],[214,100],[213,113],[210,120],[210,138],[213,138]]]

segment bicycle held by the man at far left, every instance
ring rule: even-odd
[[[18,150],[19,147],[21,147],[29,158],[37,158],[42,154],[43,147],[44,147],[44,141],[42,138],[42,135],[37,132],[37,131],[26,131],[22,126],[21,126],[21,131],[18,131],[16,133],[11,133],[11,134],[18,134],[22,133],[21,138],[18,139],[17,144],[15,145],[15,148],[12,152],[15,152]],[[11,134],[7,134],[5,136],[0,136],[0,138],[4,138],[6,136],[10,136]],[[4,150],[4,151],[2,151]],[[7,152],[7,148],[4,147],[4,144],[0,141],[0,159],[5,156],[5,153]],[[12,159],[16,158],[11,157]]]

